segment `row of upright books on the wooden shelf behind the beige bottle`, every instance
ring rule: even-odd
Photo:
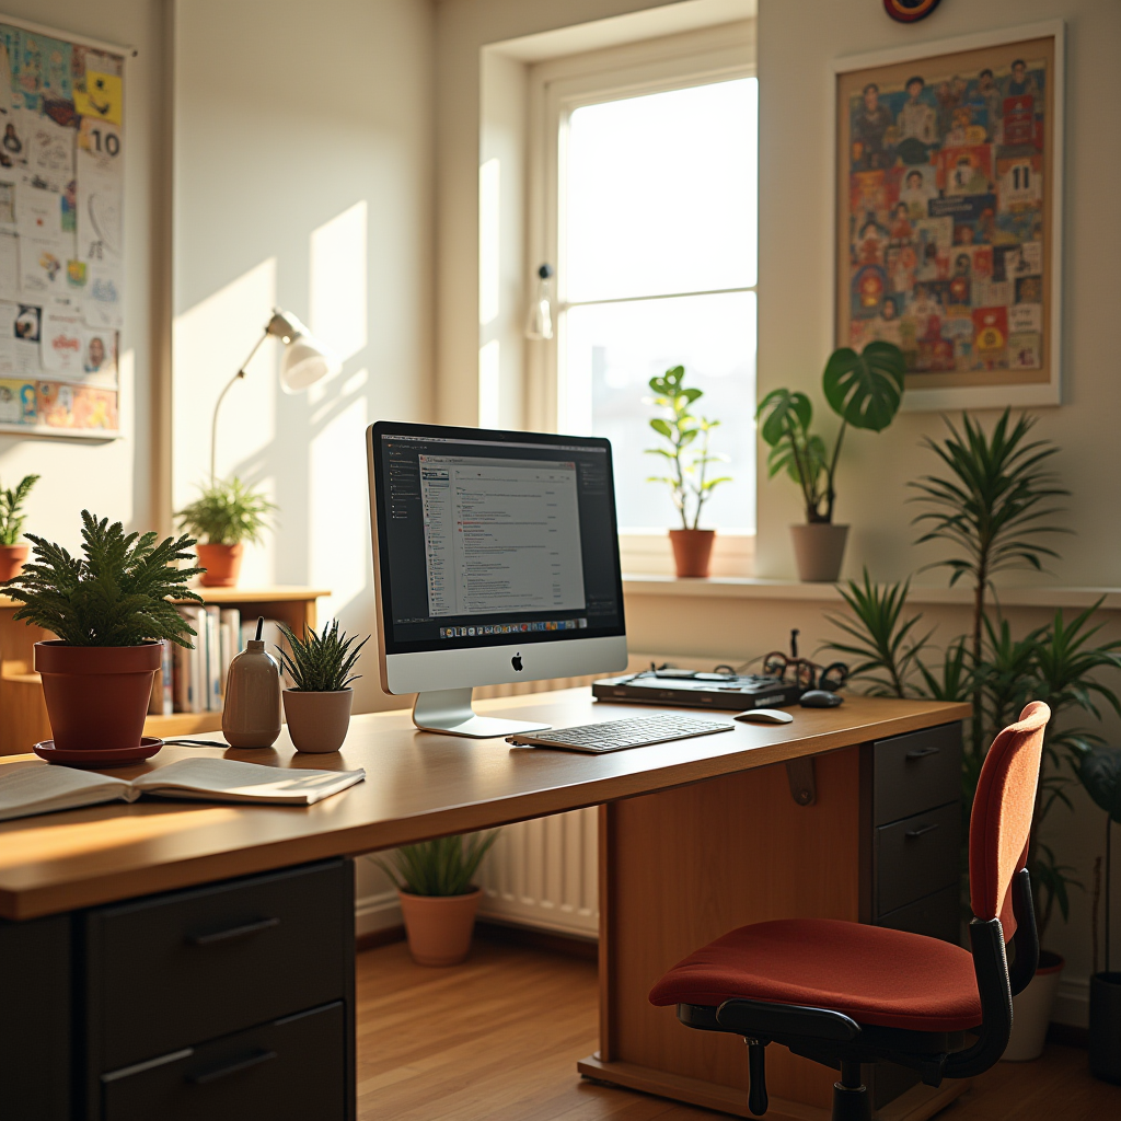
[[[176,712],[221,712],[230,663],[253,638],[257,620],[242,623],[237,608],[216,604],[177,610],[195,632],[194,649],[164,642],[161,670],[152,684],[148,712],[161,716]],[[261,638],[265,649],[274,652],[280,642],[280,628],[275,619],[265,620]]]

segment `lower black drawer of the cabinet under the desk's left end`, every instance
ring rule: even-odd
[[[342,1002],[101,1076],[103,1121],[344,1121]]]

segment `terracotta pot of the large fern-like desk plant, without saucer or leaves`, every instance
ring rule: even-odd
[[[160,667],[159,642],[142,646],[35,643],[35,669],[55,747],[63,751],[137,748]]]

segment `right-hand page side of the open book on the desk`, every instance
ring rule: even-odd
[[[132,787],[163,798],[311,806],[364,778],[365,771],[361,768],[353,771],[296,770],[238,759],[198,757],[179,759],[141,775],[132,781]]]

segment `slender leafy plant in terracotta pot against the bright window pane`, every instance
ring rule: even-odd
[[[712,464],[728,458],[710,451],[708,446],[712,430],[720,421],[693,414],[693,406],[704,391],[685,385],[684,365],[675,365],[663,377],[651,378],[650,388],[655,392],[654,404],[668,414],[655,417],[650,427],[669,446],[648,447],[646,454],[661,456],[669,474],[651,475],[647,482],[665,483],[669,488],[682,518],[682,528],[669,530],[677,575],[707,576],[716,530],[701,529],[701,510],[713,490],[721,483],[731,482],[729,475],[707,478]]]

